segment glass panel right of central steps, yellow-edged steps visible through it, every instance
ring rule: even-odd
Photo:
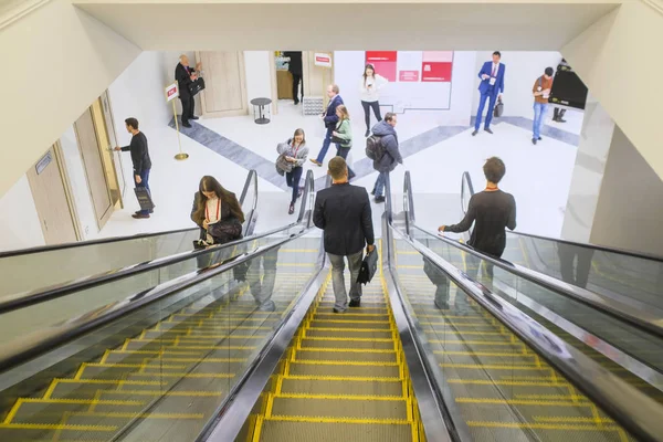
[[[424,352],[436,364],[435,379],[449,391],[450,407],[469,427],[472,440],[635,440],[409,242],[397,239],[394,249],[404,306],[420,330]],[[467,262],[452,253],[443,257]],[[470,270],[475,264],[467,265]],[[624,379],[644,383],[588,345],[576,346],[609,369],[621,370],[615,372]],[[643,390],[660,393],[652,386]]]

